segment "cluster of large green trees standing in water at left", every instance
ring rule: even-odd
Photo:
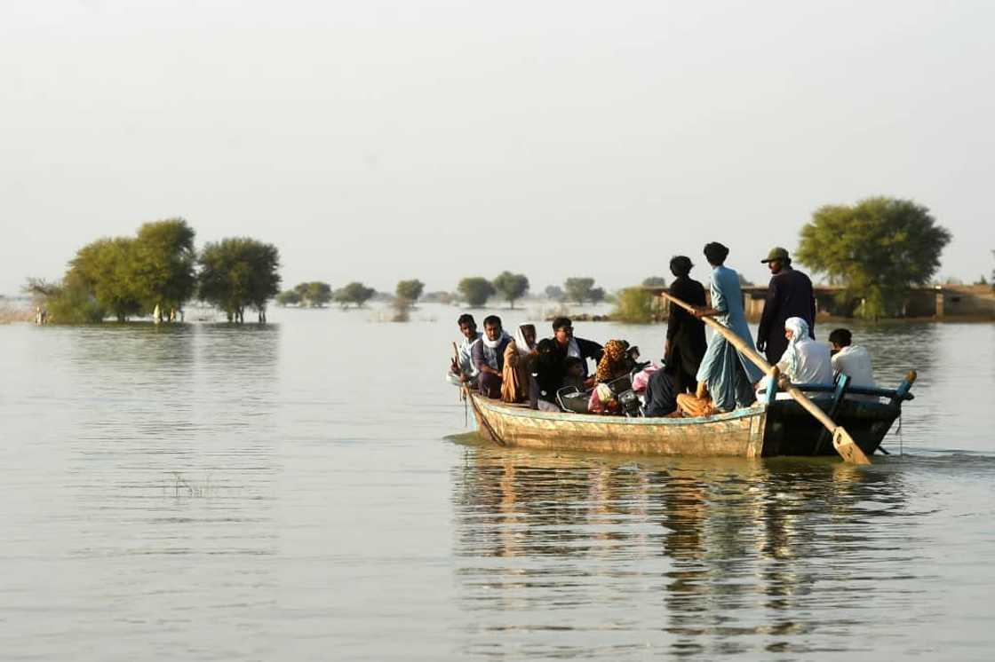
[[[280,291],[280,251],[236,237],[199,252],[182,218],[142,224],[134,237],[103,238],[80,248],[61,280],[29,278],[25,291],[42,300],[58,323],[102,322],[153,314],[173,320],[196,298],[243,323],[254,308],[266,321],[267,302]]]

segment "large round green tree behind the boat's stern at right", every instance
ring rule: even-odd
[[[910,286],[929,282],[950,239],[927,208],[877,197],[820,207],[801,230],[796,256],[845,285],[848,298],[863,299],[862,313],[878,318],[898,313]]]

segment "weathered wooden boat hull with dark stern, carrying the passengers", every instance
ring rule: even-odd
[[[915,374],[895,390],[836,385],[796,385],[853,436],[867,455],[879,449],[901,412]],[[876,396],[879,401],[847,395]],[[823,425],[791,400],[771,399],[728,414],[649,418],[538,412],[469,393],[480,432],[508,446],[642,455],[769,457],[835,455]],[[888,399],[882,402],[880,399]]]

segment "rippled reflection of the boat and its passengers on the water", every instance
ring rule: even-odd
[[[452,476],[454,552],[472,633],[609,628],[614,648],[600,653],[716,655],[803,652],[819,631],[844,650],[858,603],[883,589],[863,574],[921,545],[914,527],[888,526],[907,495],[887,467],[486,446],[464,460]],[[547,637],[532,650],[511,636],[467,652],[586,655],[587,640]]]

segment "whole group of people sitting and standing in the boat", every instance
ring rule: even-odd
[[[639,413],[647,416],[731,412],[765,399],[769,378],[721,334],[705,339],[701,319],[710,317],[746,346],[764,353],[793,384],[832,384],[846,374],[854,386],[875,386],[871,356],[853,344],[848,329],[834,330],[829,345],[815,340],[812,281],[792,267],[787,250],[773,248],[761,260],[771,279],[755,345],[743,310],[739,274],[725,265],[729,249],[713,242],[705,245],[703,253],[711,267],[710,303],[704,286],[691,277],[691,258],[671,259],[675,280],[670,293],[691,304],[694,312],[671,307],[662,366],[640,363],[639,349],[625,340],[609,340],[602,346],[575,337],[566,317],[554,319],[552,336],[539,340],[534,324],[518,326],[512,336],[497,315],[489,315],[481,332],[474,317],[464,314],[458,320],[463,341],[447,379],[488,398],[550,412],[565,409],[563,396],[568,394],[573,402],[583,398],[591,413],[629,413],[615,388],[623,380],[627,391],[639,397]],[[588,361],[596,366],[593,375]]]

